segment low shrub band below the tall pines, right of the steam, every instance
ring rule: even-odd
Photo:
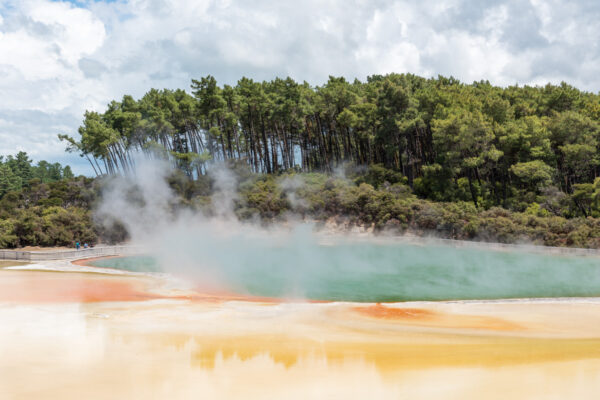
[[[380,185],[376,189],[366,182],[355,183],[326,174],[292,176],[302,181],[293,191],[295,202],[286,202],[282,195],[286,192],[281,183],[285,179],[260,175],[242,181],[238,217],[277,221],[284,213],[299,212],[311,219],[334,219],[350,226],[371,227],[375,232],[549,246],[600,246],[600,219],[554,215],[553,205],[568,207],[572,201],[554,198],[555,192],[542,195],[544,203],[532,202],[523,212],[514,212],[501,207],[478,209],[468,199],[461,202],[419,199],[401,183]],[[596,183],[598,186],[578,189],[585,191],[589,199],[595,199],[591,202],[600,197],[600,178]]]

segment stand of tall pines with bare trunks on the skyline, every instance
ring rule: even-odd
[[[381,165],[434,201],[522,211],[562,193],[583,216],[597,208],[600,96],[566,83],[502,88],[389,74],[219,86],[209,75],[191,89],[126,95],[86,112],[79,138],[59,137],[97,175],[131,170],[138,152],[192,180],[209,160],[267,174]]]

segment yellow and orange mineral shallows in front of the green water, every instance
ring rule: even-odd
[[[0,271],[0,399],[591,399],[600,392],[595,300],[207,302],[161,282]],[[78,297],[82,287],[94,288],[94,297]]]

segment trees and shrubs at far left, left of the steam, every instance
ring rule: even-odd
[[[25,152],[0,156],[0,248],[97,240],[93,181],[59,163],[33,165]]]

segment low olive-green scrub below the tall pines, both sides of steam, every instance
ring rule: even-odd
[[[600,248],[600,218],[565,218],[533,203],[524,212],[476,208],[472,202],[435,202],[418,198],[399,172],[374,164],[347,176],[287,172],[256,174],[233,164],[237,197],[232,211],[241,221],[271,224],[298,218],[347,231],[433,235],[451,239],[548,246]],[[94,218],[111,177],[75,177],[42,183],[32,180],[0,198],[0,248],[116,243],[128,234],[119,224]],[[216,182],[209,175],[169,176],[175,195],[172,212],[195,210],[218,215]],[[132,201],[136,188],[131,188]],[[568,197],[567,197],[568,200]],[[568,201],[567,201],[568,203]],[[221,210],[222,211],[222,210]]]

